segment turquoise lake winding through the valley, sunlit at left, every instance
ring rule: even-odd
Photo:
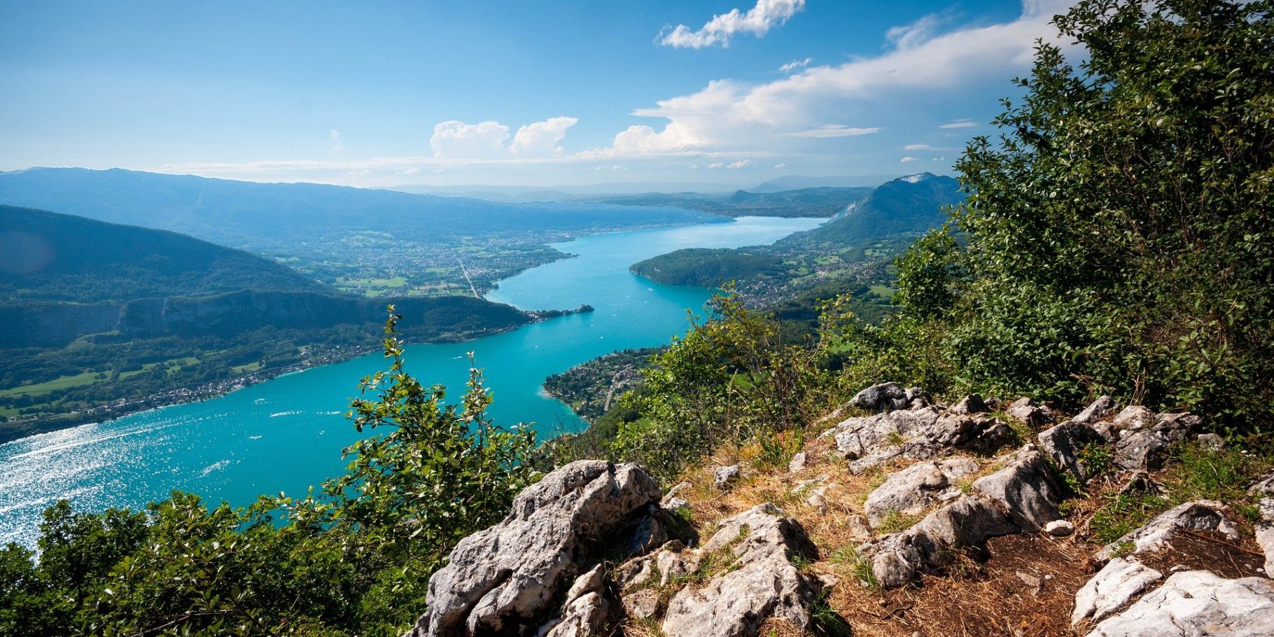
[[[580,419],[543,394],[549,375],[617,349],[668,343],[701,311],[702,288],[660,285],[628,266],[684,247],[772,243],[822,219],[745,217],[735,223],[595,234],[554,247],[580,255],[501,282],[488,298],[569,315],[469,343],[412,345],[406,369],[457,397],[474,352],[493,391],[498,424],[534,422],[541,437]],[[404,321],[410,321],[406,316]],[[380,354],[306,369],[203,403],[143,412],[0,445],[0,544],[33,545],[41,512],[59,499],[78,508],[139,508],[173,489],[242,506],[260,493],[303,496],[343,471],[340,450],[358,440],[344,413],[358,381],[385,367]]]

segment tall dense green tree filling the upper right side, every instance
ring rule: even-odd
[[[860,364],[1268,431],[1274,4],[1087,0],[1055,23],[1087,59],[1038,45],[999,139],[957,164],[954,227],[899,260],[903,320],[861,339],[879,350]],[[925,364],[891,353],[911,343]]]

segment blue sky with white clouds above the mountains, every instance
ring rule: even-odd
[[[949,172],[1064,6],[0,0],[0,169],[357,186]]]

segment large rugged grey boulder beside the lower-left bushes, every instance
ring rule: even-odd
[[[636,465],[571,462],[526,488],[508,516],[451,552],[429,578],[428,612],[409,634],[450,637],[534,631],[591,553],[659,499]]]

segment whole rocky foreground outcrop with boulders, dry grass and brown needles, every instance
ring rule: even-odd
[[[887,383],[790,456],[722,450],[666,492],[572,462],[460,543],[409,634],[1268,637],[1274,475],[1231,475],[1268,466],[1199,427]]]

